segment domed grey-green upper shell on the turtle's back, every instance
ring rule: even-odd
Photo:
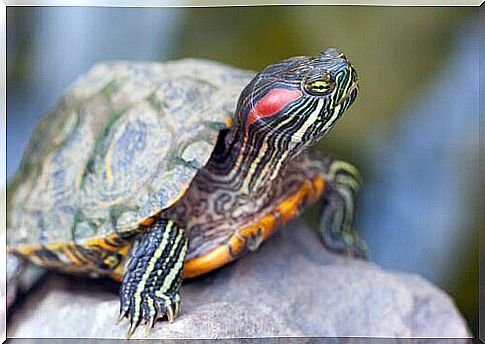
[[[171,207],[253,75],[195,59],[94,66],[33,133],[7,188],[8,245],[130,232]]]

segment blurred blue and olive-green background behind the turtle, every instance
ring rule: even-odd
[[[478,40],[478,8],[8,7],[7,179],[37,121],[98,61],[199,57],[259,70],[339,47],[360,97],[317,148],[362,171],[356,227],[371,260],[446,290],[477,333]],[[305,214],[314,228],[317,215]]]

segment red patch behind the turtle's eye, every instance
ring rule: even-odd
[[[249,126],[261,117],[274,115],[281,111],[286,105],[301,97],[299,90],[287,90],[285,88],[275,88],[269,91],[263,98],[258,100],[251,110],[246,123],[246,131]]]

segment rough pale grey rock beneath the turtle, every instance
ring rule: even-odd
[[[255,253],[185,281],[181,315],[152,338],[469,337],[441,290],[416,275],[326,251],[301,221]],[[124,338],[116,285],[49,276],[13,314],[8,336]],[[134,335],[146,338],[143,327]]]

